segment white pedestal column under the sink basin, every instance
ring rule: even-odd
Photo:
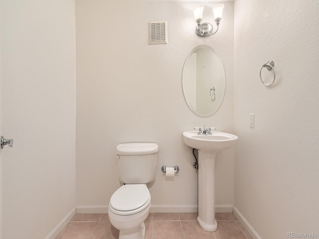
[[[212,151],[198,150],[198,218],[200,227],[208,232],[217,230],[215,220],[215,158]]]

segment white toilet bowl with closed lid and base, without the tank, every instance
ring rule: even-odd
[[[151,195],[145,184],[127,184],[111,197],[109,219],[120,231],[119,239],[144,239],[144,221],[149,216]]]

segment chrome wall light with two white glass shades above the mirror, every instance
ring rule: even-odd
[[[198,5],[193,8],[195,21],[197,23],[196,33],[199,36],[209,36],[213,35],[218,31],[218,25],[221,21],[221,16],[223,14],[224,4],[217,4],[213,7],[214,17],[217,25],[216,31],[213,33],[213,26],[209,22],[201,22],[203,19],[203,5]]]

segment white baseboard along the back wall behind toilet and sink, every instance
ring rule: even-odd
[[[151,205],[151,213],[197,213],[197,205]],[[215,205],[216,213],[232,213],[233,205]],[[76,213],[108,213],[106,205],[77,206]]]

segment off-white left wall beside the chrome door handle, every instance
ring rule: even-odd
[[[1,0],[5,239],[44,239],[75,208],[74,9]]]

